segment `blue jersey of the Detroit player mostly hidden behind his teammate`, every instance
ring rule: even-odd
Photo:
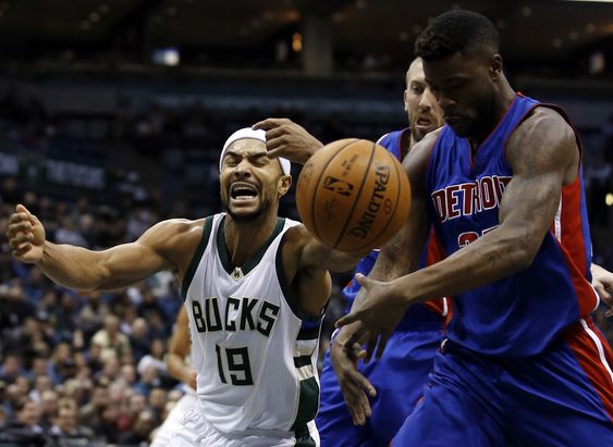
[[[409,128],[390,132],[379,138],[377,142],[393,153],[396,159],[402,161],[402,138],[403,135],[408,136],[409,133]],[[359,263],[355,268],[355,273],[361,273],[363,275],[368,276],[375,265],[375,262],[377,262],[378,257],[379,250],[372,250],[370,253],[360,259]],[[433,235],[430,234],[428,244],[425,246],[421,253],[419,269],[422,269],[425,265],[433,264],[442,258],[443,254],[441,252],[441,248],[433,238]],[[347,303],[347,312],[351,310],[352,303],[359,289],[360,285],[355,280],[354,274],[354,277],[350,281],[345,288],[343,288],[343,297]],[[407,331],[416,330],[424,325],[442,327],[445,319],[449,314],[451,314],[451,308],[449,305],[450,303],[446,298],[441,298],[412,306],[405,312],[397,327],[400,330],[405,328]]]

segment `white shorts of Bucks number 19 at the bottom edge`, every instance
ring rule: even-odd
[[[193,409],[170,436],[172,447],[319,447],[315,423],[308,424],[309,433],[296,439],[293,433],[268,430],[248,430],[242,433],[222,433],[207,421],[199,409]]]

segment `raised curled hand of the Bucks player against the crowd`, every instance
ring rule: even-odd
[[[9,218],[7,239],[13,257],[28,264],[42,259],[45,227],[23,204],[17,204],[15,213]]]

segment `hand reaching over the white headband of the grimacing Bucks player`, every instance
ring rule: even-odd
[[[254,124],[253,128],[266,131],[268,157],[282,157],[305,164],[310,156],[323,147],[304,127],[284,117],[269,117]]]

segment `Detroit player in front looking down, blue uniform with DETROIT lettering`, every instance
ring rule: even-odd
[[[392,445],[613,445],[613,356],[589,316],[599,299],[574,128],[511,88],[480,14],[438,16],[416,53],[446,125],[405,159],[409,218],[338,322],[347,348],[380,355],[407,306],[453,298],[424,399]],[[415,271],[430,224],[446,259]]]

